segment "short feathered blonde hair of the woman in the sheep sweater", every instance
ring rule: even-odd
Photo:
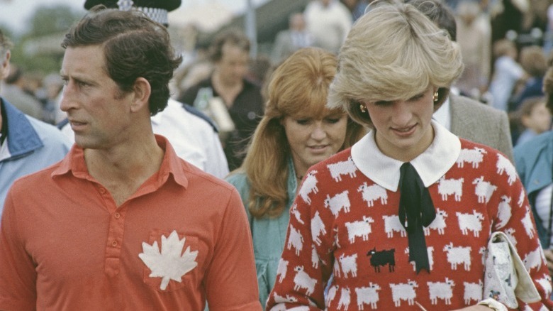
[[[432,84],[440,107],[461,75],[459,46],[410,4],[375,1],[354,24],[338,56],[328,107],[342,108],[355,121],[372,126],[363,101],[406,100]]]

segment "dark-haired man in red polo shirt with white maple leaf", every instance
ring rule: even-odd
[[[152,132],[180,62],[165,28],[94,8],[62,46],[76,145],[11,187],[0,310],[260,310],[238,192]]]

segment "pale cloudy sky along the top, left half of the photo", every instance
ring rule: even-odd
[[[206,4],[220,4],[233,13],[245,11],[247,1],[259,6],[267,0],[181,0],[178,10],[186,10]],[[41,5],[66,4],[75,9],[83,9],[84,0],[0,0],[0,24],[8,25],[16,33],[26,30],[26,21]],[[83,9],[84,12],[84,9]]]

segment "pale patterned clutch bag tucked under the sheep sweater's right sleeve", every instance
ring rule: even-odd
[[[493,232],[488,241],[483,298],[493,298],[511,309],[518,308],[517,298],[526,303],[541,300],[515,246],[501,231]]]

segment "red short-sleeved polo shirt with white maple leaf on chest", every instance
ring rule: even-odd
[[[235,188],[165,155],[120,207],[82,148],[21,178],[0,227],[1,310],[260,310]]]

